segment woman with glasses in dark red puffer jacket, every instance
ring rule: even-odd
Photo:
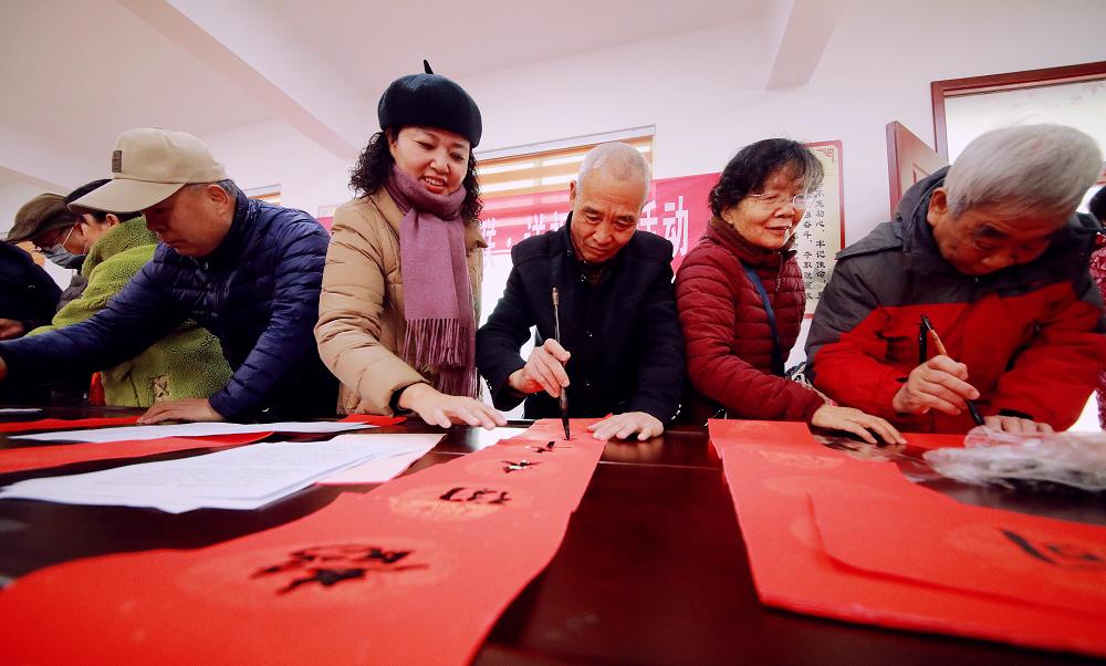
[[[806,301],[795,229],[822,176],[813,153],[783,138],[749,145],[726,165],[710,192],[707,233],[676,274],[692,386],[685,410],[700,423],[722,414],[803,420],[872,444],[873,433],[904,443],[886,420],[784,377]]]

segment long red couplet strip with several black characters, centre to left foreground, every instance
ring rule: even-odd
[[[0,593],[0,663],[468,662],[555,554],[603,450],[549,441],[504,441],[201,550],[20,577]]]

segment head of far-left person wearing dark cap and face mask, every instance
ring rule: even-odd
[[[43,194],[20,207],[15,212],[15,223],[8,232],[7,242],[30,242],[54,266],[74,271],[58,300],[58,310],[80,296],[87,285],[81,274],[84,256],[73,251],[85,244],[76,222],[76,216],[65,208],[65,197]]]

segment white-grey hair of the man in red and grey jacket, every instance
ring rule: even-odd
[[[1102,168],[1095,139],[1074,127],[1005,127],[968,144],[945,188],[953,218],[988,205],[1013,216],[1070,216]]]

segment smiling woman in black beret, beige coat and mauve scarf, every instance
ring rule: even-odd
[[[424,66],[384,92],[356,197],[334,212],[315,340],[342,383],[340,412],[492,428],[507,422],[478,399],[474,365],[480,110]]]

